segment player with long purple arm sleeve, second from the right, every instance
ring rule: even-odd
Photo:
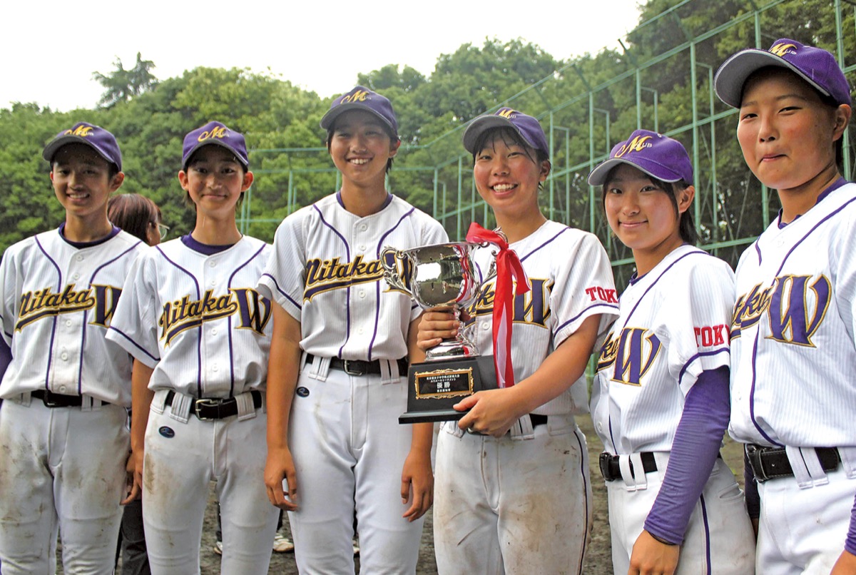
[[[591,389],[614,572],[751,573],[743,493],[717,457],[734,273],[693,246],[690,158],[675,139],[636,130],[588,182],[603,186],[609,228],[636,263]]]

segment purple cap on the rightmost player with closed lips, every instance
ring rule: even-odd
[[[770,50],[750,48],[740,50],[728,58],[716,70],[713,80],[716,95],[725,104],[740,108],[746,80],[766,66],[791,70],[817,92],[834,99],[835,104],[852,103],[850,86],[835,61],[835,56],[821,48],[806,46],[788,38],[776,40]]]

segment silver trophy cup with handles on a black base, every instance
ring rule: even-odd
[[[449,242],[409,250],[386,248],[381,254],[383,279],[389,287],[409,293],[424,309],[448,307],[460,317],[479,297],[481,285],[475,274],[473,251],[488,243]],[[491,264],[487,277],[494,273]],[[464,412],[452,408],[461,397],[496,388],[493,356],[479,354],[478,348],[461,334],[443,340],[425,352],[425,362],[413,364],[407,412],[400,423],[460,419]]]

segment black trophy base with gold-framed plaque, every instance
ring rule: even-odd
[[[467,412],[452,406],[467,395],[496,388],[496,368],[492,355],[426,361],[410,365],[407,383],[407,412],[399,424],[457,421]]]

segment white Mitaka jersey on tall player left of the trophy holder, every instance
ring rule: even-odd
[[[383,280],[380,253],[448,241],[431,216],[389,196],[382,210],[357,216],[332,194],[285,218],[259,291],[300,321],[300,347],[341,359],[407,355],[407,329],[422,310]]]

